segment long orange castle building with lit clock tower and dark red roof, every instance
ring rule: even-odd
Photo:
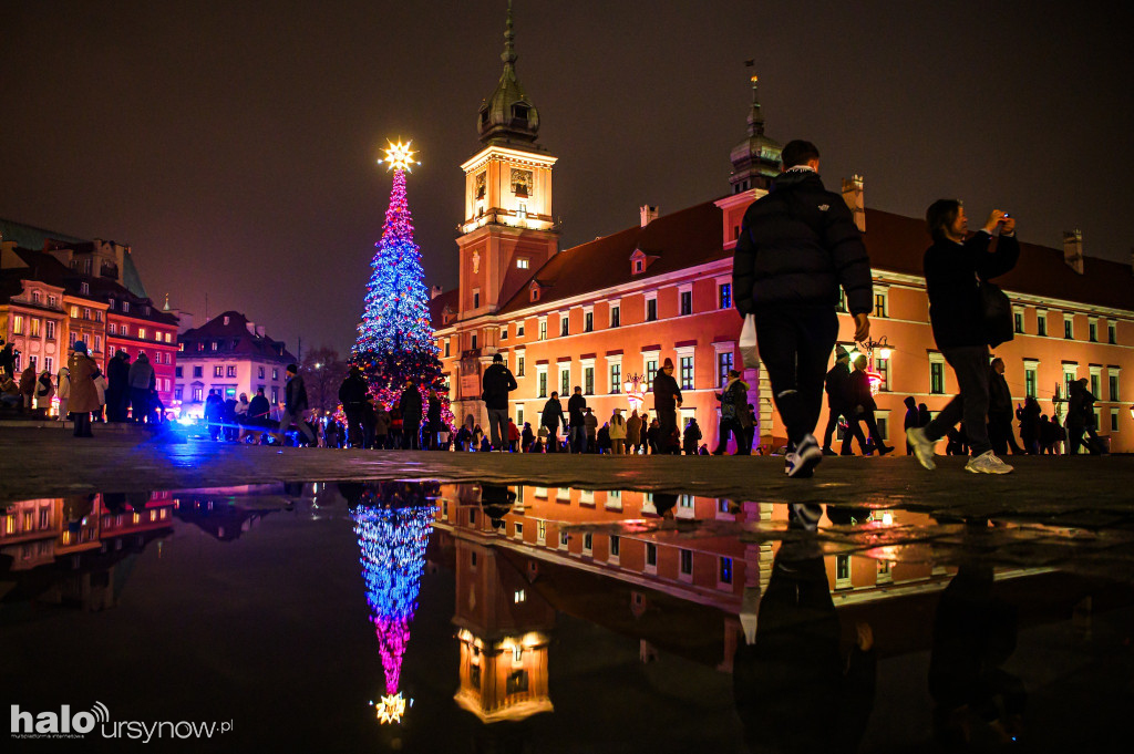
[[[696,418],[702,442],[714,449],[716,393],[728,370],[742,364],[734,247],[744,211],[765,193],[770,166],[779,159],[778,145],[763,136],[755,79],[748,138],[731,154],[730,195],[661,217],[657,207],[643,206],[637,227],[566,251],[558,251],[551,221],[556,158],[535,144],[538,126],[535,109],[515,81],[514,57],[511,62],[506,57],[500,85],[481,108],[484,149],[462,166],[460,283],[431,304],[454,415],[486,427],[480,375],[500,354],[519,384],[509,399],[521,426],[538,425],[552,391],[566,407],[576,386],[599,426],[616,407],[627,416],[624,382],[632,375],[644,379],[643,408],[652,416],[649,384],[669,358],[683,392],[680,424]],[[875,344],[858,349],[870,353],[881,376],[882,435],[902,447],[903,400],[913,396],[936,413],[957,386],[929,323],[924,222],[866,209],[863,185],[855,176],[841,187],[873,266]],[[1026,218],[1021,222],[1026,235]],[[993,349],[1005,359],[1013,400],[1032,396],[1044,414],[1065,416],[1067,382],[1086,378],[1099,400],[1099,432],[1114,451],[1134,450],[1134,392],[1126,384],[1134,370],[1132,272],[1128,264],[1084,259],[1076,231],[1066,235],[1063,249],[1022,244],[1017,268],[997,280],[1016,313],[1015,339]],[[852,319],[844,312],[839,320],[839,342],[853,350]],[[756,368],[745,370],[744,379],[759,417],[758,444],[764,451],[781,447],[786,432],[767,378]],[[819,431],[826,421],[824,408]]]

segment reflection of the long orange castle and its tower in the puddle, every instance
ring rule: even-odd
[[[515,646],[518,637],[536,635],[535,645],[545,646],[542,637],[555,610],[641,639],[645,661],[660,647],[730,671],[736,647],[755,637],[760,599],[780,547],[743,533],[782,531],[788,510],[700,495],[458,484],[442,485],[434,515],[434,525],[456,542],[457,698],[491,721],[506,719],[511,709],[521,717],[531,713],[526,700],[508,694],[508,673],[499,666],[507,669],[510,662],[500,646],[505,638]],[[665,526],[658,526],[659,516]],[[932,524],[929,516],[909,511],[886,511],[885,520],[879,512],[875,520],[866,509],[828,507],[827,516],[824,528],[861,533],[863,542],[888,530]],[[638,520],[642,525],[634,523]],[[584,524],[596,526],[570,528]],[[838,608],[874,610],[871,605],[892,598],[936,593],[954,571],[929,559],[898,560],[896,550],[894,560],[849,550],[823,558]],[[865,544],[857,549],[865,550]],[[525,601],[516,603],[521,593]],[[518,612],[535,605],[533,616]],[[474,617],[474,611],[484,612]],[[485,647],[493,654],[476,670]],[[518,656],[526,654],[524,650]],[[491,684],[485,678],[490,662]],[[544,696],[545,681],[539,678]],[[530,671],[528,688],[535,686]],[[538,703],[551,706],[545,698]]]

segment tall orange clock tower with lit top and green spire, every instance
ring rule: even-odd
[[[556,158],[535,143],[540,115],[516,78],[510,0],[503,39],[503,73],[477,115],[483,147],[460,166],[465,172],[465,217],[457,239],[457,316],[476,320],[463,333],[462,348],[489,353],[494,353],[498,344],[491,315],[559,251],[559,231],[551,213]],[[475,345],[473,333],[479,336]]]

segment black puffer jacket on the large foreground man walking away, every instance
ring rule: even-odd
[[[742,315],[764,306],[836,306],[839,286],[852,314],[873,306],[870,256],[843,197],[811,170],[780,173],[744,213],[733,257]]]

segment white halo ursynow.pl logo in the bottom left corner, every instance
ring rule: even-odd
[[[90,712],[71,713],[70,705],[60,705],[58,712],[33,713],[11,705],[12,738],[83,738],[99,727],[102,738],[130,738],[149,744],[154,738],[212,738],[214,734],[232,730],[232,720],[221,722],[191,722],[181,720],[143,722],[118,720],[111,722],[110,710],[95,702]]]

